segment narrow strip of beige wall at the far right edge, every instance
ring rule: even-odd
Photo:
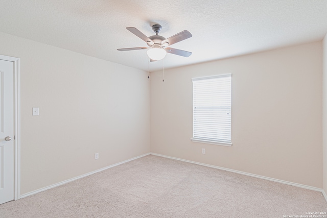
[[[322,177],[323,177],[323,190],[327,193],[327,35],[322,41],[323,55],[322,55]]]

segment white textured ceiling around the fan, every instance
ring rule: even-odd
[[[321,40],[327,0],[10,0],[1,1],[0,19],[0,32],[157,70]],[[146,50],[116,50],[147,46],[125,28],[151,36],[152,23],[166,38],[190,31],[192,38],[171,47],[193,54],[148,63]]]

